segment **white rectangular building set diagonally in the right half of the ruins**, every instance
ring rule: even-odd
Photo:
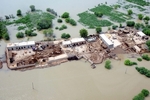
[[[110,41],[110,39],[108,39],[108,37],[105,34],[100,34],[99,36],[108,48],[114,47],[114,44]]]

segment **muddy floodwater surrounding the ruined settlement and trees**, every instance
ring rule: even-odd
[[[59,15],[67,11],[71,18],[78,20],[78,13],[88,10],[99,3],[108,1],[109,4],[118,0],[2,0],[0,6],[1,16],[15,14],[16,10],[22,12],[29,10],[33,4],[38,9],[45,10],[53,8]],[[59,39],[62,33],[70,33],[72,37],[79,37],[79,30],[86,28],[80,23],[71,26],[64,21],[57,23],[53,20],[53,28],[67,25],[66,30],[55,30],[56,38]],[[0,41],[0,55],[4,55],[6,43],[21,42],[27,40],[39,41],[44,39],[42,32],[32,38],[17,39],[17,26],[7,27],[10,34],[10,41]],[[107,31],[107,27],[103,31]],[[88,29],[89,34],[94,34],[94,29]],[[145,88],[150,90],[150,79],[139,74],[135,66],[124,66],[123,62],[127,55],[119,55],[121,61],[111,60],[112,69],[104,68],[104,62],[92,69],[84,59],[71,61],[54,67],[33,69],[27,71],[11,71],[3,64],[0,69],[0,100],[131,100],[135,95]],[[136,59],[132,59],[136,61]],[[136,61],[137,62],[137,61]],[[148,69],[149,62],[138,62],[138,66]],[[147,97],[146,100],[149,100]]]

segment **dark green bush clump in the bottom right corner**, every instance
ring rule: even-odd
[[[149,95],[149,91],[146,89],[143,89],[141,93],[136,95],[132,100],[145,100],[145,97]]]

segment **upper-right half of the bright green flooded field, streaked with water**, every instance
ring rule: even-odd
[[[122,23],[129,20],[130,17],[119,11],[115,11],[113,7],[107,6],[105,4],[98,5],[95,8],[90,9],[92,12],[101,12],[103,15],[108,16],[113,22]]]

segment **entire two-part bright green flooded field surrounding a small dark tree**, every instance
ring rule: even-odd
[[[96,17],[93,13],[88,13],[88,11],[78,14],[78,16],[80,17],[79,22],[86,26],[89,26],[90,28],[111,26],[113,22],[124,23],[126,22],[126,20],[131,19],[131,16],[119,12],[114,9],[113,6],[108,6],[106,4],[99,4],[89,11],[93,13],[101,12],[104,16],[98,19],[98,17]]]

